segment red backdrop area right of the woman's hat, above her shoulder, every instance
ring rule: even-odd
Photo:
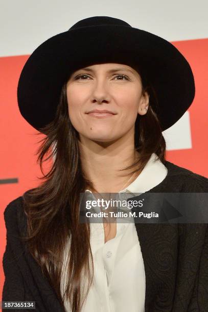
[[[208,39],[172,42],[194,73],[196,94],[190,113],[192,148],[167,151],[167,160],[208,177]]]

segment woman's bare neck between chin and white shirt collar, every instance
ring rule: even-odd
[[[101,143],[86,139],[79,141],[82,170],[85,177],[93,182],[96,192],[117,193],[127,188],[140,174],[138,171],[132,176],[135,167],[118,171],[138,160],[139,154],[134,149],[134,141]],[[90,186],[87,188],[95,192]]]

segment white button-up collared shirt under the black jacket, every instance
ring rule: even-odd
[[[149,191],[164,180],[167,168],[156,158],[156,154],[153,153],[140,175],[126,189],[119,192],[120,199],[122,193],[130,193],[123,197],[125,199],[133,197],[138,195],[137,193]],[[89,190],[85,192],[91,193]],[[92,193],[90,196],[96,200]],[[124,219],[120,222],[124,222]],[[106,243],[103,222],[90,223],[94,279],[82,312],[145,311],[145,269],[135,223],[133,219],[126,223],[120,222],[117,219],[116,236]],[[64,272],[63,267],[62,295],[65,286]],[[84,287],[83,276],[83,289]],[[67,300],[64,300],[64,306],[66,311],[71,311]]]

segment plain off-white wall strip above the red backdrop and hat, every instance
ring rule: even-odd
[[[0,0],[0,57],[28,55],[83,18],[125,20],[169,41],[208,38],[207,0]]]

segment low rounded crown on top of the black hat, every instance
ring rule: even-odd
[[[131,27],[127,22],[122,19],[109,17],[109,16],[93,16],[84,18],[74,24],[70,29],[78,29],[82,27],[91,27],[91,26],[98,26],[98,25],[119,25],[119,26],[128,26]]]

